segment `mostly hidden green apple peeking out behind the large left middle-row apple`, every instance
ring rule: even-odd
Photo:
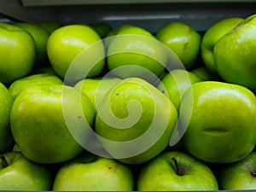
[[[16,98],[22,90],[31,87],[34,84],[63,84],[62,80],[56,75],[50,73],[38,73],[17,79],[10,84],[9,92]]]

